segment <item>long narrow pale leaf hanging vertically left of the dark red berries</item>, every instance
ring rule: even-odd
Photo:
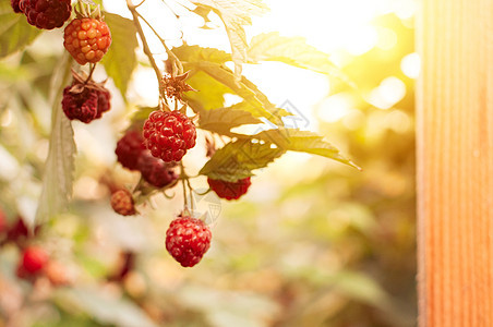
[[[36,222],[46,221],[67,208],[72,195],[75,143],[69,119],[61,108],[63,87],[71,77],[72,60],[64,55],[60,71],[53,75],[51,136]]]

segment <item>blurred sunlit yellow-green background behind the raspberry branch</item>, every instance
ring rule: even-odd
[[[275,12],[280,1],[272,2]],[[369,24],[376,33],[371,46],[330,51],[357,88],[317,75],[326,87],[310,106],[292,100],[289,89],[274,90],[363,171],[288,154],[258,171],[239,202],[197,198],[200,209],[220,214],[212,249],[192,269],[164,247],[181,207],[178,195],[157,196],[137,217],[117,216],[109,206],[108,178],[127,185],[137,179],[115,162],[113,150],[146,99],[134,83],[124,102],[110,81],[111,112],[91,125],[73,124],[79,154],[70,210],[34,241],[71,282],[19,279],[19,249],[2,245],[0,326],[414,326],[413,16],[380,11]],[[10,223],[36,209],[60,37],[59,31],[44,34],[0,61],[0,204]],[[262,86],[262,72],[252,70],[245,74]],[[96,77],[104,80],[104,70]],[[121,274],[124,263],[131,269]]]

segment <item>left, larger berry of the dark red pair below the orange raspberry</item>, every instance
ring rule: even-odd
[[[67,86],[63,89],[62,108],[67,118],[70,120],[80,120],[89,123],[97,116],[97,104],[99,93],[96,89],[84,87]]]

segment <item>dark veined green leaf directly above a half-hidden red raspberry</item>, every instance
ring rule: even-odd
[[[285,153],[285,149],[270,144],[239,140],[218,149],[201,169],[200,174],[214,180],[236,182],[253,175],[252,170],[266,167]]]

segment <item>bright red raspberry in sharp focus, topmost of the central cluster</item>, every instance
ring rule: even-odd
[[[144,123],[144,144],[156,158],[180,161],[195,146],[195,125],[179,111],[153,111]]]

